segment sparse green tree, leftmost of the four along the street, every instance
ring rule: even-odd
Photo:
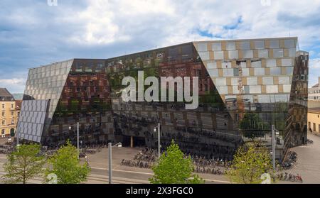
[[[46,160],[40,155],[40,149],[41,146],[37,144],[19,145],[7,155],[8,161],[4,164],[6,175],[2,180],[10,184],[26,184],[28,180],[41,175]]]

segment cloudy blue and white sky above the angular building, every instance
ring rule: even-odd
[[[320,76],[320,0],[0,1],[0,87],[23,92],[28,68],[193,40],[299,37],[309,86]]]

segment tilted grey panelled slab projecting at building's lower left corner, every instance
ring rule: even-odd
[[[40,143],[49,100],[24,100],[18,121],[19,138]]]

